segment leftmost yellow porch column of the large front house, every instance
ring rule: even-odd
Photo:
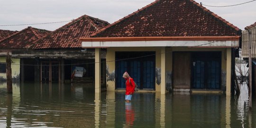
[[[95,48],[95,93],[101,92],[101,49]]]

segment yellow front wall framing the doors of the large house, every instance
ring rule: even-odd
[[[221,52],[221,90],[230,90],[231,81],[231,48],[197,48],[197,47],[165,47],[165,53],[161,53],[161,47],[110,47],[106,55],[107,90],[115,90],[115,52],[129,51],[154,51],[155,52],[155,91],[161,91],[161,54],[165,54],[165,89],[172,91],[173,83],[173,52]],[[228,54],[227,54],[228,52]],[[228,58],[228,59],[227,59]],[[227,60],[230,61],[227,66]],[[227,69],[230,70],[227,73]],[[229,78],[230,77],[230,78]],[[162,79],[163,80],[163,79]],[[230,91],[229,91],[230,92]],[[228,92],[228,93],[229,93]]]

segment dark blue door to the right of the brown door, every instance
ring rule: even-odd
[[[192,88],[220,89],[220,52],[192,53]]]

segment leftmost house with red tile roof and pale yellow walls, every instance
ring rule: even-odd
[[[19,32],[15,32],[14,34],[0,40],[0,70],[3,71],[0,73],[0,79],[6,80],[6,71],[2,70],[5,69],[5,62],[6,62],[6,54],[12,54],[12,51],[20,51],[26,50],[28,44],[32,43],[33,41],[39,39],[40,37],[45,36],[50,31],[44,29],[38,29],[33,27],[27,27]],[[12,56],[13,57],[13,56]],[[12,58],[12,78],[14,82],[19,81],[20,76],[20,59]],[[28,70],[29,71],[29,70]],[[30,73],[30,72],[26,72]]]

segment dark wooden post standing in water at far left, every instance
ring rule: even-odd
[[[6,79],[7,79],[7,93],[12,93],[11,59],[10,59],[9,52],[6,55]]]

